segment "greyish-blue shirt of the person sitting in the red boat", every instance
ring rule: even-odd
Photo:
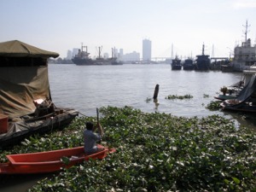
[[[84,130],[84,152],[86,154],[96,153],[98,148],[96,142],[100,141],[102,137],[91,130]]]

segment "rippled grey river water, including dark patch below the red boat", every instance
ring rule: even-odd
[[[219,114],[234,119],[236,126],[252,122],[239,113],[210,111],[207,104],[214,101],[220,87],[241,80],[241,73],[172,71],[170,64],[118,66],[76,66],[49,64],[49,84],[55,106],[75,108],[87,116],[96,116],[96,108],[131,106],[147,113],[172,113],[177,116],[204,117]],[[160,85],[155,105],[155,85]],[[190,95],[189,100],[168,100],[166,96]],[[12,179],[1,191],[26,191],[41,177],[1,177]]]

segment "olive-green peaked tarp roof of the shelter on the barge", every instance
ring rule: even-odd
[[[7,57],[58,57],[59,54],[44,49],[39,49],[18,40],[0,43],[0,56]]]

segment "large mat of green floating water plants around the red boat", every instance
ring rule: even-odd
[[[256,137],[219,115],[205,118],[100,108],[102,142],[117,149],[52,174],[28,191],[255,191]],[[0,154],[32,153],[83,145],[83,116],[62,131],[26,139]]]

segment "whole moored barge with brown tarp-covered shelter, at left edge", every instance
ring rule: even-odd
[[[0,148],[69,124],[79,112],[57,108],[49,90],[49,57],[18,40],[0,43]]]

